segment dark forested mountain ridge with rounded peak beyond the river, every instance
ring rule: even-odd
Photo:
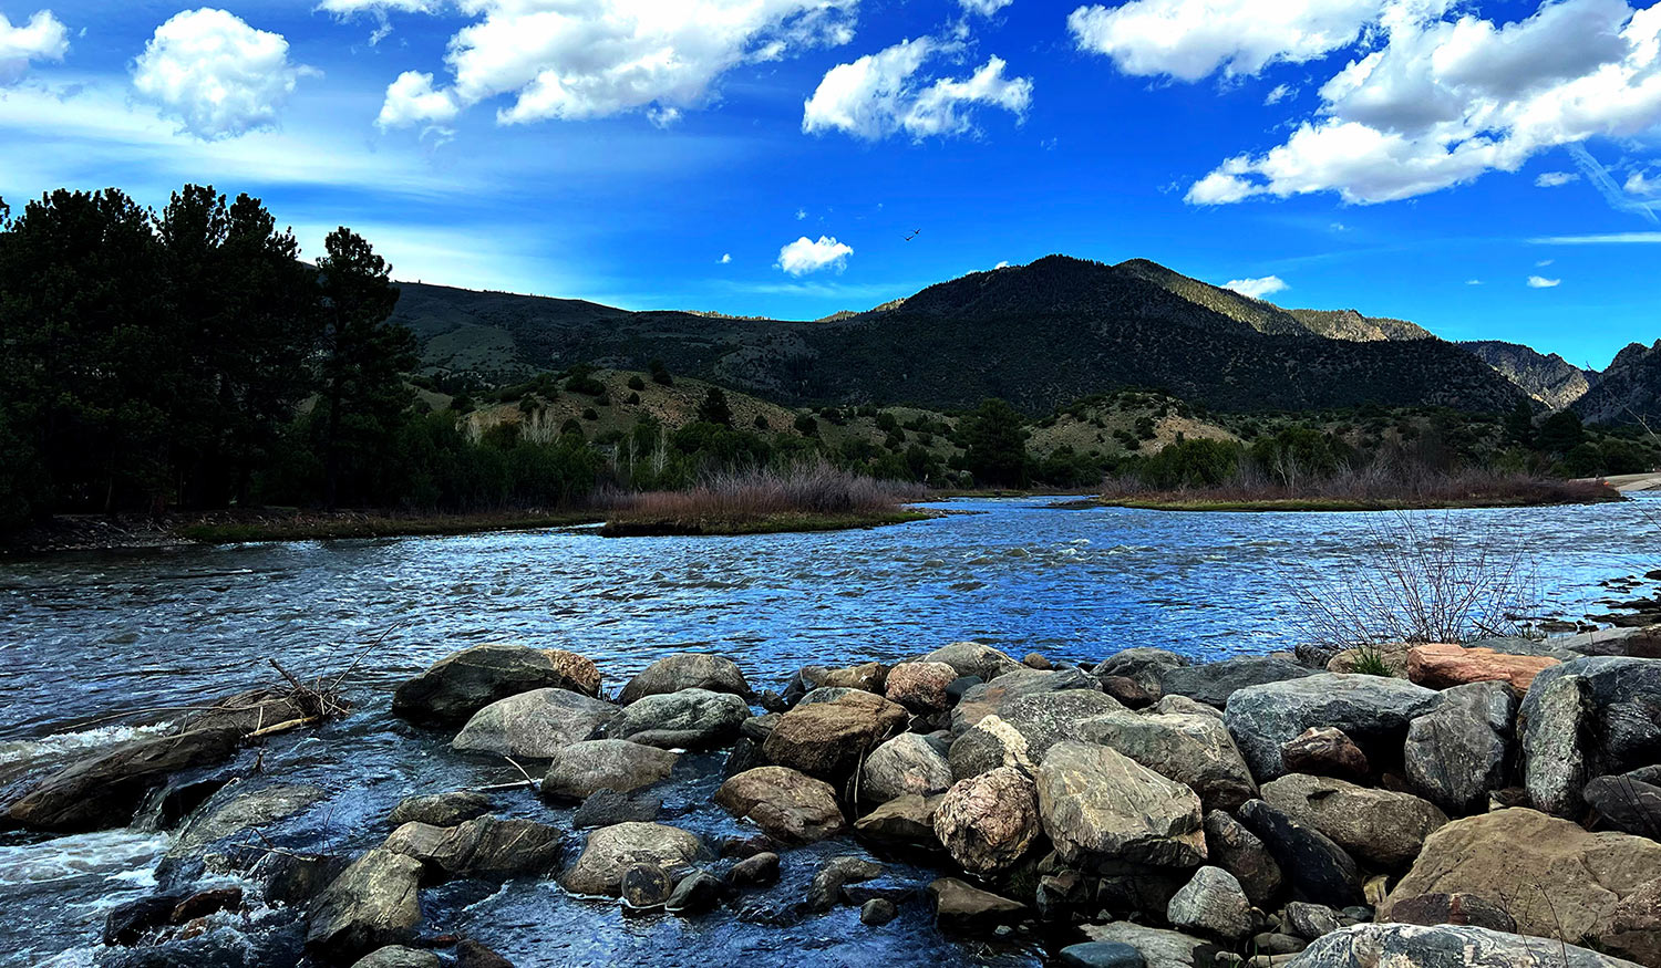
[[[578,362],[673,372],[794,405],[937,408],[1003,397],[1030,413],[1121,387],[1216,410],[1359,403],[1503,412],[1508,380],[1438,339],[1319,339],[1292,314],[1153,262],[1050,256],[817,322],[628,312],[404,286],[395,319],[429,370],[512,380]]]

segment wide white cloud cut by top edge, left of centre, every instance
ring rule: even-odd
[[[703,106],[742,63],[854,38],[859,0],[460,0],[442,90],[458,108],[512,95],[500,125]],[[392,91],[389,90],[389,98]],[[678,116],[678,115],[674,115]],[[415,118],[407,123],[417,123]]]

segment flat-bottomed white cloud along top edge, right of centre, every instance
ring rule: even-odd
[[[1101,53],[1128,75],[1198,81],[1218,70],[1254,75],[1276,61],[1302,63],[1355,43],[1384,0],[1131,0],[1080,7],[1066,18],[1080,50]]]

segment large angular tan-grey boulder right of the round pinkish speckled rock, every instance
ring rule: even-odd
[[[1113,749],[1060,742],[1036,785],[1043,829],[1070,863],[1194,867],[1206,858],[1199,797]]]

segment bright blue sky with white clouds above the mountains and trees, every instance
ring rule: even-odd
[[[184,181],[400,279],[812,319],[1050,252],[1601,367],[1661,5],[0,0],[0,198]],[[915,239],[905,236],[919,231]]]

